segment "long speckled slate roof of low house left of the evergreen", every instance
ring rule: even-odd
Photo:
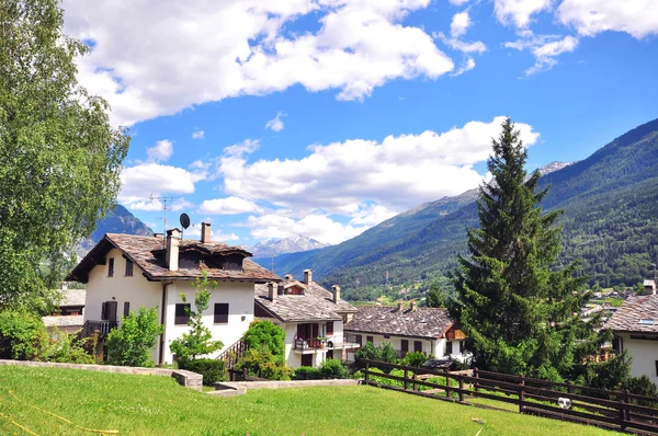
[[[434,340],[442,337],[453,323],[445,309],[417,308],[416,311],[398,311],[392,307],[364,306],[359,308],[359,312],[343,330]]]

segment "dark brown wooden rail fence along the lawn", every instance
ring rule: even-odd
[[[629,433],[658,435],[658,398],[654,397],[481,371],[477,368],[474,369],[473,376],[467,376],[376,360],[363,363],[366,385],[474,405],[481,405],[477,404],[477,399],[483,398],[514,404],[520,413],[576,421]],[[373,371],[373,368],[400,369],[404,376]],[[445,382],[428,381],[429,376],[444,377]],[[373,380],[373,377],[394,380],[399,386],[388,386]]]

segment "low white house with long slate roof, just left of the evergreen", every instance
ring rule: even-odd
[[[449,317],[447,310],[419,308],[416,301],[411,301],[408,309],[402,301],[397,307],[362,307],[343,330],[355,335],[359,344],[372,342],[381,345],[389,342],[399,358],[409,352],[462,362],[470,356],[464,348],[466,335]],[[349,359],[352,358],[349,356]]]

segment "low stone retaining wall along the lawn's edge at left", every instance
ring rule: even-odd
[[[166,369],[166,368],[136,368],[129,366],[113,366],[113,365],[81,365],[81,364],[57,364],[54,362],[32,362],[32,360],[5,360],[0,359],[0,366],[33,366],[41,368],[67,368],[82,369],[87,371],[115,372],[115,374],[135,374],[146,376],[167,376],[173,377],[179,385],[185,388],[201,391],[203,376],[201,374],[183,370],[183,369]]]

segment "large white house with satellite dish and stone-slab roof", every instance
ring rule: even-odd
[[[105,234],[67,278],[87,284],[84,334],[99,331],[103,339],[118,325],[121,315],[141,306],[157,307],[164,333],[152,358],[157,364],[172,363],[169,344],[190,329],[180,294],[186,305],[193,302],[193,280],[205,272],[217,287],[204,323],[225,349],[238,342],[253,321],[254,285],[281,278],[249,260],[251,253],[241,248],[212,242],[211,225],[201,226],[198,241],[181,240],[179,229],[169,230],[166,239]]]

